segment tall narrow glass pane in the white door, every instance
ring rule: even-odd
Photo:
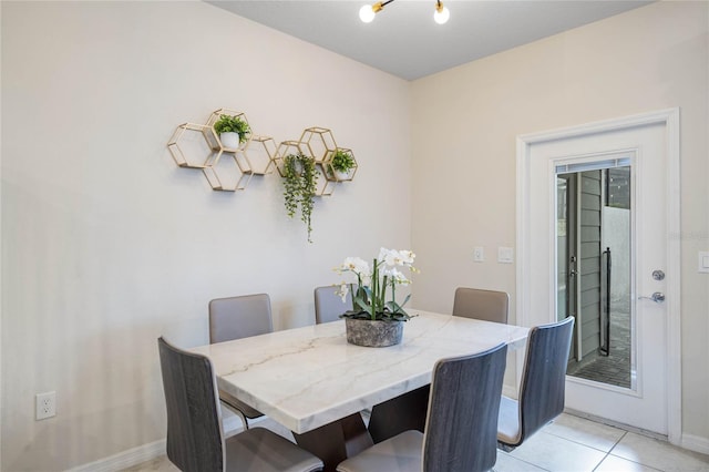
[[[629,160],[556,173],[556,316],[576,318],[567,374],[633,388]]]

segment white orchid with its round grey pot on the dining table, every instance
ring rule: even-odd
[[[397,286],[409,285],[409,280],[399,269],[413,267],[415,254],[411,250],[381,248],[379,256],[369,264],[359,257],[348,257],[335,270],[338,274],[352,273],[357,276],[357,287],[352,288],[353,309],[345,311],[347,341],[367,347],[387,347],[401,342],[403,321],[411,316],[403,306],[411,297],[397,302]],[[350,285],[340,284],[338,295],[346,299]],[[388,293],[391,298],[388,299]]]

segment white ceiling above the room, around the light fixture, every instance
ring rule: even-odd
[[[435,0],[397,0],[371,23],[372,0],[206,0],[405,80],[415,80],[521,44],[643,7],[640,0],[446,0],[451,19],[433,21]]]

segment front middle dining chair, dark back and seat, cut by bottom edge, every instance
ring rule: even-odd
[[[477,472],[497,459],[497,411],[507,346],[441,359],[433,368],[425,432],[404,431],[349,458],[338,472]]]

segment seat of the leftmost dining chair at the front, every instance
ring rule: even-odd
[[[322,461],[287,439],[264,428],[251,428],[226,440],[230,472],[311,472]]]

